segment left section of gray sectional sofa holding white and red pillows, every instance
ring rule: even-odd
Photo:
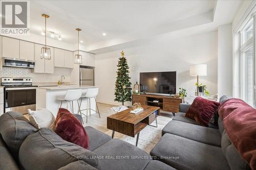
[[[174,169],[130,143],[92,127],[85,129],[89,150],[48,128],[36,130],[17,112],[4,113],[0,116],[0,169]]]

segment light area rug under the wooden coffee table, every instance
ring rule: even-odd
[[[155,126],[154,123],[152,125]],[[156,128],[152,126],[146,126],[142,131],[140,131],[138,148],[144,150],[147,153],[150,153],[150,151],[153,149],[156,143],[160,140],[161,131],[162,131],[162,128],[160,127]],[[112,130],[107,131],[105,134],[112,136]],[[121,133],[115,132],[114,139],[121,139],[133,145],[136,144],[136,136],[130,137],[130,136],[126,136]]]

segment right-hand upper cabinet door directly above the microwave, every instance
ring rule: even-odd
[[[27,41],[19,41],[19,58],[34,61],[35,48],[34,43]]]

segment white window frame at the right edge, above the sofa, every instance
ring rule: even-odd
[[[246,99],[245,88],[245,70],[246,64],[243,57],[243,52],[246,52],[250,47],[253,51],[253,106],[256,108],[256,59],[255,59],[255,37],[256,37],[256,3],[254,2],[247,9],[239,26],[233,33],[233,96],[242,100]],[[243,30],[252,21],[253,35],[243,44]]]

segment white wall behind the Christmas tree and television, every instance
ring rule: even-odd
[[[130,66],[132,85],[139,81],[139,72],[144,71],[177,71],[177,91],[179,87],[188,90],[188,96],[195,94],[196,77],[189,76],[189,65],[207,64],[207,76],[200,77],[200,83],[208,86],[210,94],[217,90],[217,31],[172,39],[153,41],[124,48],[125,57]],[[97,100],[114,103],[114,89],[117,62],[120,51],[95,55],[95,85],[99,86]],[[187,100],[190,100],[187,98]]]

